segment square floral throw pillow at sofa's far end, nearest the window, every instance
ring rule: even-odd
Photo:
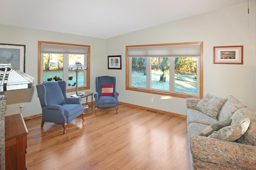
[[[196,109],[210,117],[216,118],[226,100],[227,99],[225,98],[217,97],[207,93],[206,96],[200,102],[198,102]]]

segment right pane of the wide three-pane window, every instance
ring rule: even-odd
[[[174,91],[196,93],[197,58],[175,58]]]

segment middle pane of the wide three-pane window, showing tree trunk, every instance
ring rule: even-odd
[[[168,57],[151,58],[151,88],[169,91],[170,62]]]

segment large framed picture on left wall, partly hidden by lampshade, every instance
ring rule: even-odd
[[[26,45],[0,43],[0,62],[11,63],[13,67],[25,72]]]

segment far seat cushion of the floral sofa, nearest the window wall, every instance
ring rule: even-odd
[[[203,125],[211,125],[214,122],[217,122],[216,118],[210,117],[197,109],[187,109],[187,124],[189,123],[200,123]]]

